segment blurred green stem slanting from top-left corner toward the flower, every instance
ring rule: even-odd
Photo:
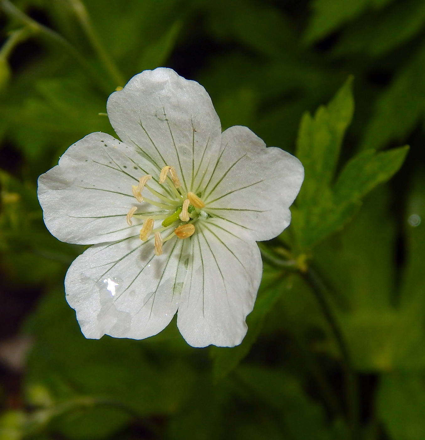
[[[29,30],[31,30],[33,33],[45,35],[46,37],[49,37],[51,40],[55,41],[56,43],[60,44],[63,48],[65,48],[69,53],[74,57],[74,59],[80,63],[80,65],[87,70],[88,73],[90,73],[91,77],[94,79],[96,84],[103,84],[104,81],[101,77],[99,77],[98,73],[95,72],[90,64],[87,62],[87,60],[83,57],[83,55],[80,54],[79,51],[74,48],[74,46],[69,43],[69,41],[65,40],[62,35],[58,34],[57,32],[54,32],[54,30],[48,28],[47,26],[44,26],[40,24],[39,22],[36,22],[36,20],[33,20],[28,15],[24,14],[20,9],[18,9],[13,3],[11,3],[9,0],[1,0],[0,3],[1,9],[9,15],[12,18],[15,18],[22,24],[25,24]],[[110,88],[106,87],[104,85],[105,92],[110,93]]]

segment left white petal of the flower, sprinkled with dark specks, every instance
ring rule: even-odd
[[[59,164],[39,177],[38,198],[47,228],[59,240],[76,244],[137,235],[141,220],[133,219],[132,227],[126,223],[131,207],[137,206],[138,213],[158,208],[138,203],[131,186],[152,171],[152,165],[133,147],[108,134],[91,133],[69,147]],[[155,189],[164,193],[159,185]]]

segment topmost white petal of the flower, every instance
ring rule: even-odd
[[[173,165],[186,191],[220,152],[221,125],[209,95],[174,70],[139,73],[109,96],[107,109],[120,138],[141,148],[158,171]]]

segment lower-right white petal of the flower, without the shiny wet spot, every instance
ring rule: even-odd
[[[194,347],[233,347],[247,332],[262,275],[260,251],[243,229],[224,220],[196,225],[177,325]]]

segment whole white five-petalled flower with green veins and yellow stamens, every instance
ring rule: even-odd
[[[178,310],[190,345],[240,344],[256,241],[289,225],[301,163],[246,127],[222,133],[205,89],[171,69],[136,75],[107,109],[121,141],[91,133],[38,181],[49,231],[94,245],[65,279],[82,332],[142,339]]]

